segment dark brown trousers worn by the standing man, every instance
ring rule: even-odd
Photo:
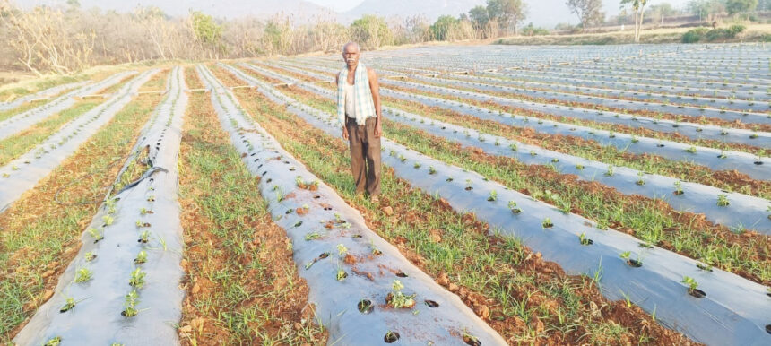
[[[375,138],[375,117],[368,117],[365,125],[345,117],[348,142],[351,144],[351,170],[356,182],[356,194],[380,194],[380,138]]]

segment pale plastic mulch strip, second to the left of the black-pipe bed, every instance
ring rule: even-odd
[[[77,90],[67,92],[51,102],[37,108],[32,108],[22,114],[15,115],[0,122],[0,140],[18,134],[32,125],[38,124],[52,115],[73,107],[75,97],[82,97],[103,90],[122,81],[127,76],[136,74],[134,71],[113,74],[101,82],[91,83]]]

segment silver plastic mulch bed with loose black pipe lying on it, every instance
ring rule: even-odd
[[[155,167],[164,169],[156,169],[152,176],[100,207],[87,229],[94,229],[103,238],[95,241],[91,232],[83,232],[82,247],[59,278],[56,294],[39,307],[13,342],[40,345],[58,336],[63,345],[178,343],[176,326],[184,291],[178,288],[183,275],[179,266],[183,243],[177,157],[187,102],[184,83],[182,68],[177,66],[169,78],[168,96],[134,147],[138,151],[150,146]],[[138,241],[145,231],[149,232],[148,242]],[[141,251],[146,262],[135,263]],[[87,255],[95,257],[87,260]],[[91,280],[75,282],[82,269],[91,272]],[[129,280],[137,269],[143,273],[144,283],[132,287]],[[132,290],[138,295],[134,306],[138,313],[126,317],[122,313],[126,311],[126,295]],[[60,312],[67,298],[76,304]]]

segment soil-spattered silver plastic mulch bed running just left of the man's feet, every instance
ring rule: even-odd
[[[330,344],[382,344],[388,332],[398,333],[401,344],[463,345],[464,333],[482,345],[506,344],[460,298],[368,229],[358,211],[248,119],[232,94],[201,65],[199,74],[212,89],[222,127],[246,155],[247,168],[260,177],[260,194],[273,221],[292,240],[299,275],[308,282],[309,301],[329,331]],[[318,182],[317,190],[299,188],[300,180]],[[305,212],[299,215],[299,209]],[[394,280],[403,283],[403,294],[416,295],[414,307],[386,305]],[[429,307],[426,300],[438,307]]]

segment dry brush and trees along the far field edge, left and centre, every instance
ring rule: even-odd
[[[0,68],[35,74],[73,74],[93,65],[155,59],[241,58],[334,51],[348,40],[364,48],[430,40],[497,38],[515,33],[526,15],[522,0],[488,0],[455,18],[429,22],[364,15],[343,25],[329,15],[299,21],[279,14],[270,19],[228,20],[191,11],[172,17],[154,6],[132,13],[83,9],[77,0],[24,10],[0,0]]]

